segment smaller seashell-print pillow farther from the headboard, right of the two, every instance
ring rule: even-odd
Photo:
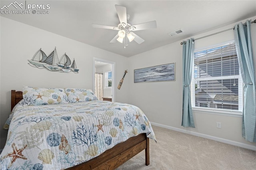
[[[67,88],[65,89],[65,92],[68,95],[68,102],[70,103],[98,100],[91,89]]]

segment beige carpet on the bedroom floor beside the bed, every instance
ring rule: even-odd
[[[256,170],[256,151],[152,126],[150,165],[142,151],[117,170]]]

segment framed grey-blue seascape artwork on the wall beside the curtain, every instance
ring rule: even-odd
[[[134,83],[175,81],[175,63],[134,70]]]

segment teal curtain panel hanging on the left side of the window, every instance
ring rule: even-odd
[[[184,127],[195,127],[191,106],[190,83],[192,77],[192,65],[194,60],[194,42],[190,38],[183,43],[182,54],[182,81],[183,81],[183,113],[182,123]]]

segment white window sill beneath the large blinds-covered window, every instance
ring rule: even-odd
[[[222,116],[231,116],[231,117],[242,117],[242,111],[228,111],[222,109],[211,109],[211,108],[202,108],[202,107],[192,107],[192,111],[199,113],[213,114],[213,115],[222,115]]]

